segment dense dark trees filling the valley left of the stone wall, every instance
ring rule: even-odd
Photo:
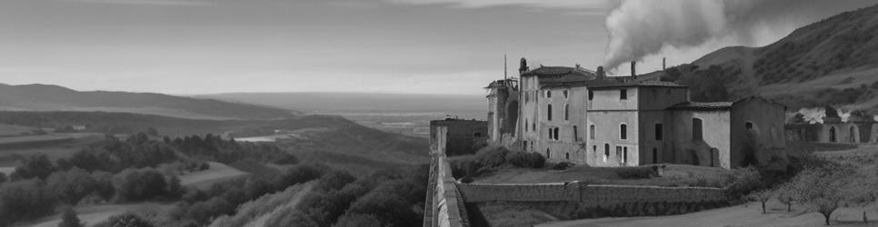
[[[165,213],[114,216],[99,226],[119,222],[204,226],[216,217],[234,215],[245,202],[312,181],[316,186],[303,204],[271,217],[272,226],[411,226],[423,216],[426,167],[381,171],[358,179],[323,164],[298,164],[293,154],[270,143],[240,143],[212,134],[173,139],[156,135],[137,133],[125,140],[108,137],[55,162],[45,154],[24,157],[15,173],[0,173],[0,226],[59,212],[65,222],[74,224],[78,219],[71,206],[146,201],[175,205]],[[181,186],[177,176],[209,168],[206,161],[292,167],[277,174],[215,183],[207,189]]]

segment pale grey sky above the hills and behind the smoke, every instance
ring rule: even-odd
[[[604,64],[605,17],[618,5],[617,0],[0,0],[0,83],[165,94],[484,94],[486,84],[503,78],[504,54],[511,76],[518,74],[521,57],[532,67]],[[793,28],[772,31],[756,44],[770,44]],[[683,64],[726,44],[734,42],[717,39],[663,55],[670,55],[670,65]],[[638,71],[660,67],[660,57],[647,57]]]

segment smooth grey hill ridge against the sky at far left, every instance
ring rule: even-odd
[[[78,92],[45,84],[0,84],[0,110],[104,111],[190,119],[274,119],[296,114],[290,110],[254,104],[152,93]]]

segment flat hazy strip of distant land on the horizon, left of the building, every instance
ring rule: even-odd
[[[441,112],[470,117],[484,115],[487,108],[480,94],[230,93],[195,97],[317,113]]]

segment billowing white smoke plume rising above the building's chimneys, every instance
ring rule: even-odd
[[[613,70],[666,49],[686,50],[711,42],[770,44],[796,27],[872,4],[820,0],[624,0],[606,17],[609,43],[604,66]]]

